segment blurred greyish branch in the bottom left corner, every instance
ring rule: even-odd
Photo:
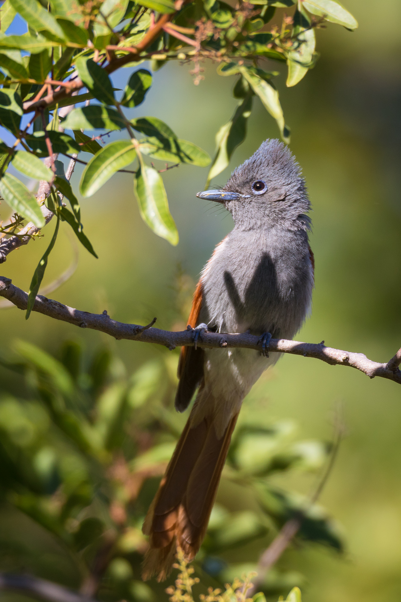
[[[0,573],[0,590],[25,592],[48,602],[95,602],[93,598],[76,594],[57,583],[30,575]]]

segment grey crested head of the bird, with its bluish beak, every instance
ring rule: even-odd
[[[247,161],[232,172],[222,190],[197,196],[222,203],[236,228],[310,229],[310,209],[299,164],[285,144],[265,140]]]

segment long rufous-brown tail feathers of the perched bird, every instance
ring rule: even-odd
[[[166,579],[175,561],[176,548],[192,560],[204,539],[216,498],[232,431],[238,414],[218,439],[213,417],[191,427],[191,416],[176,445],[166,474],[143,523],[150,549],[143,562],[142,577]]]

